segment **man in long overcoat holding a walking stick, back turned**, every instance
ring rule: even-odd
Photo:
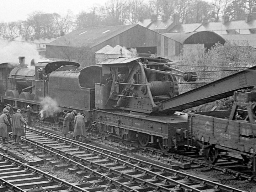
[[[21,114],[21,110],[18,109],[17,112],[14,113],[12,116],[12,135],[14,136],[16,145],[21,144],[20,137],[25,136],[25,132],[23,128],[24,124],[26,125],[27,122],[23,118]]]

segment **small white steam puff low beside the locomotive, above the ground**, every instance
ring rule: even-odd
[[[55,101],[51,97],[41,97],[40,98],[40,104],[43,107],[42,110],[39,112],[41,118],[46,116],[53,116],[55,112],[61,111],[57,101]]]

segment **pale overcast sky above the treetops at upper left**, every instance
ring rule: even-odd
[[[34,11],[58,13],[64,16],[70,9],[75,15],[89,11],[93,5],[104,5],[108,0],[0,0],[0,22],[26,20]]]

